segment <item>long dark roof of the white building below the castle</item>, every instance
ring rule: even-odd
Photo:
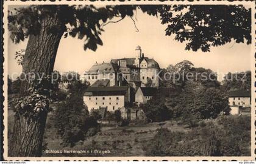
[[[125,95],[128,91],[128,86],[113,86],[113,87],[88,87],[84,95]]]

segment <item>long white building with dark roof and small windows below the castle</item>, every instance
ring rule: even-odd
[[[84,94],[84,103],[88,111],[106,108],[114,112],[130,103],[129,86],[88,87]]]

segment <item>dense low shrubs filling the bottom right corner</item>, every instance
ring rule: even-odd
[[[251,121],[244,116],[226,116],[205,123],[193,131],[170,132],[157,129],[143,144],[150,156],[249,156]]]

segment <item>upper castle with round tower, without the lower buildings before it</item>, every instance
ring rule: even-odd
[[[135,49],[135,58],[112,59],[109,63],[95,63],[84,73],[84,80],[92,86],[104,84],[106,86],[123,86],[130,83],[132,86],[145,87],[149,79],[151,86],[158,87],[159,78],[156,76],[160,67],[152,58],[144,56],[141,47]]]

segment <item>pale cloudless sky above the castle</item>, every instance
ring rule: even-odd
[[[218,73],[218,79],[227,72],[242,72],[251,68],[251,44],[238,44],[232,41],[219,47],[211,47],[210,52],[185,50],[185,43],[174,40],[174,36],[165,36],[166,26],[159,18],[149,16],[140,10],[132,19],[125,18],[118,23],[109,23],[104,27],[101,39],[103,46],[96,52],[84,50],[84,40],[62,38],[60,41],[54,70],[59,72],[75,71],[80,74],[90,69],[96,61],[109,62],[112,58],[135,57],[135,48],[141,46],[144,56],[154,58],[161,68],[183,60],[191,61],[195,67],[212,69]],[[16,78],[22,67],[15,60],[15,52],[26,49],[27,39],[23,43],[13,44],[8,40],[8,72]],[[15,74],[16,73],[16,74]]]

